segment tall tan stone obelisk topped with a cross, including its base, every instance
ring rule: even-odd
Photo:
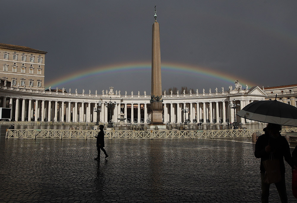
[[[155,5],[155,22],[152,29],[151,52],[151,124],[162,125],[162,85],[161,85],[161,55],[160,55],[160,31],[157,22]]]

